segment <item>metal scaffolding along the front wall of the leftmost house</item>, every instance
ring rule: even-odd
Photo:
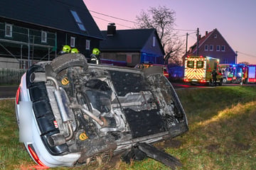
[[[6,27],[7,25],[7,27]],[[0,23],[0,62],[16,61],[25,69],[41,60],[52,60],[57,53],[57,34]]]

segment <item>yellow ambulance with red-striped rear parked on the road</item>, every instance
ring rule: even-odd
[[[223,75],[219,67],[220,60],[207,56],[187,56],[184,65],[184,81],[191,84],[213,84],[212,72],[217,72],[216,83],[220,86]]]

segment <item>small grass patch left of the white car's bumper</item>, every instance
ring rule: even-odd
[[[14,100],[0,101],[0,169],[19,169],[33,164],[23,145],[18,142],[18,126]]]

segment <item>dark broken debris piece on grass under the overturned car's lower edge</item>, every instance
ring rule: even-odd
[[[176,166],[182,166],[181,162],[176,157],[146,143],[137,143],[131,150],[122,154],[121,159],[122,161],[129,163],[131,159],[142,160],[146,157],[155,159],[156,161],[171,167],[173,170],[176,169]]]

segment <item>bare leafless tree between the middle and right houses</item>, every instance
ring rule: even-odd
[[[175,11],[166,6],[149,7],[147,11],[142,10],[139,16],[136,16],[137,28],[155,28],[161,44],[166,53],[164,57],[165,64],[171,61],[174,64],[181,65],[181,53],[183,52],[183,42],[178,38],[174,31]]]

